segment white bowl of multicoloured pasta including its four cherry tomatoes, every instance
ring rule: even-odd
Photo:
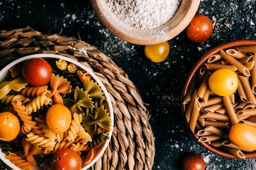
[[[86,170],[110,142],[108,92],[71,58],[35,54],[11,62],[0,71],[0,101],[0,159],[11,169]]]

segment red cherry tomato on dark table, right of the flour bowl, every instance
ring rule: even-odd
[[[186,27],[186,35],[192,42],[201,43],[206,41],[212,33],[213,25],[205,15],[195,15]]]

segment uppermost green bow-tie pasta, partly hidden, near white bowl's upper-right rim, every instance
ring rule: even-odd
[[[94,82],[93,80],[85,79],[83,89],[93,99],[104,98],[101,87],[99,84],[97,84],[97,82]]]

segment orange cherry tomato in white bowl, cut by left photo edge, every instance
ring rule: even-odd
[[[0,139],[12,141],[20,132],[20,122],[18,117],[11,112],[0,113]]]

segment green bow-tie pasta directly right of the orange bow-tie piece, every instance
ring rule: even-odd
[[[71,113],[82,113],[83,108],[94,108],[92,98],[82,88],[79,89],[78,86],[74,90],[74,100],[63,99],[63,102]]]

